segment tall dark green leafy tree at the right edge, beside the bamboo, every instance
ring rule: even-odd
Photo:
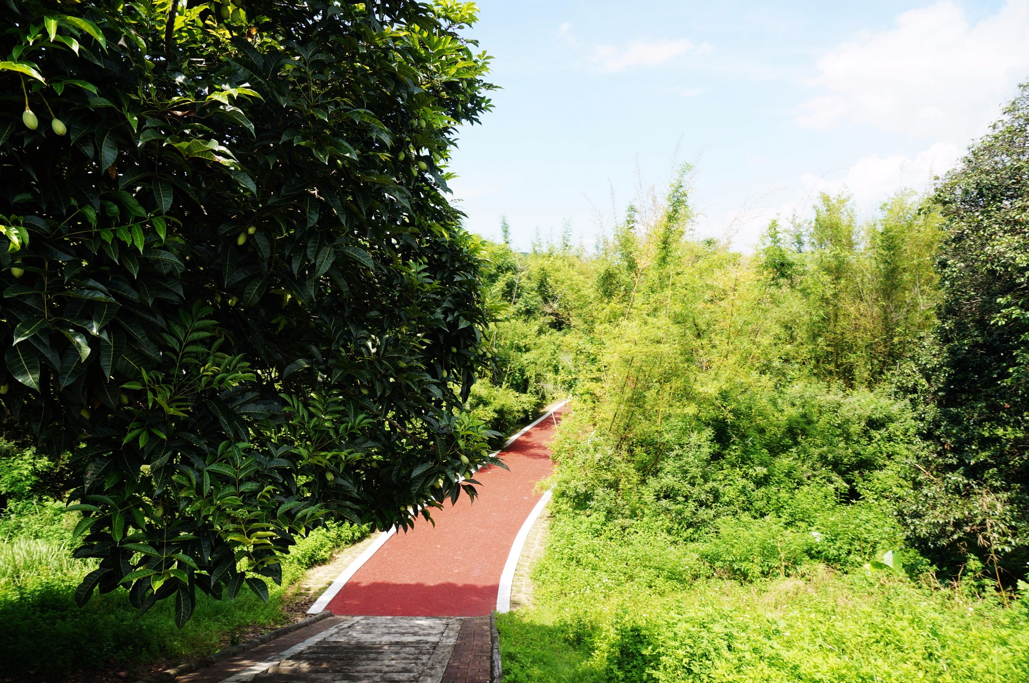
[[[919,386],[933,448],[907,524],[941,564],[973,554],[1010,584],[1029,560],[1029,85],[933,199],[943,302]]]

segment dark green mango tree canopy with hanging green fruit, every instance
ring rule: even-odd
[[[473,495],[490,313],[443,165],[490,107],[474,11],[0,5],[0,393],[80,501],[79,600],[181,623],[325,519]]]

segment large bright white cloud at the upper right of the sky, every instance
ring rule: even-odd
[[[844,43],[817,66],[810,83],[823,93],[802,105],[802,125],[853,122],[964,142],[1029,79],[1029,2],[1008,0],[974,26],[951,2],[907,11],[895,28]]]

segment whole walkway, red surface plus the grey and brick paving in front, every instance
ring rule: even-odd
[[[501,453],[474,504],[433,513],[395,534],[328,603],[331,616],[181,679],[183,683],[491,683],[500,574],[551,473],[549,444],[563,410]],[[499,662],[498,662],[499,665]],[[493,682],[497,683],[497,682]]]

